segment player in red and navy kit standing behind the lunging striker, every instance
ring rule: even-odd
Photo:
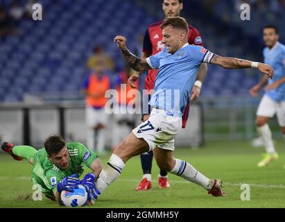
[[[176,17],[180,15],[180,11],[183,8],[182,0],[164,0],[162,3],[162,10],[164,11],[165,17]],[[161,22],[157,22],[155,24],[151,24],[148,26],[146,34],[144,35],[144,45],[143,45],[143,54],[141,58],[148,58],[149,56],[155,55],[159,51],[162,51],[164,48],[164,44],[162,44],[162,29],[160,28]],[[189,35],[188,35],[189,44],[196,44],[203,46],[202,39],[200,37],[200,33],[196,28],[189,25]],[[139,76],[140,73],[135,74],[135,76]],[[200,87],[202,86],[202,82],[205,80],[205,76],[207,74],[207,65],[204,63],[201,65],[197,82],[193,87],[193,94],[191,96],[191,100],[198,99],[200,95]],[[157,75],[157,69],[151,69],[148,71],[146,76],[144,89],[153,90],[155,84],[155,78]],[[151,94],[151,91],[150,91]],[[144,95],[148,97],[148,101],[150,99],[150,94]],[[146,121],[150,117],[150,107],[148,108],[148,112],[143,112],[143,116],[141,118],[142,121]],[[144,110],[145,111],[145,110]],[[186,127],[187,119],[189,114],[189,103],[187,103],[187,108],[185,109],[182,116],[182,128]],[[144,153],[141,157],[141,167],[143,169],[143,179],[139,183],[139,186],[136,188],[137,191],[140,190],[148,190],[151,189],[151,168],[153,162],[153,151],[148,153]],[[169,181],[167,180],[167,172],[160,169],[158,176],[158,184],[159,188],[169,188]]]

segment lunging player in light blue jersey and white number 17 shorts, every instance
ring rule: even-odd
[[[210,180],[191,164],[173,157],[174,137],[181,129],[181,115],[198,74],[202,62],[220,65],[226,69],[256,67],[268,77],[273,76],[269,65],[236,58],[223,58],[211,53],[202,46],[189,45],[188,26],[182,17],[166,18],[162,23],[162,43],[164,49],[146,59],[134,56],[126,48],[126,38],[116,36],[116,42],[126,61],[136,71],[158,68],[155,92],[150,99],[153,110],[150,118],[141,123],[119,144],[107,166],[99,174],[96,186],[104,191],[119,177],[125,163],[131,157],[153,150],[160,167],[177,176],[200,185],[213,196],[225,193],[221,180]],[[131,83],[137,77],[130,77]]]

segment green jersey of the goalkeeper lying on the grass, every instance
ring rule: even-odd
[[[62,178],[74,173],[81,176],[84,165],[90,168],[92,162],[98,157],[96,153],[89,151],[78,142],[67,143],[67,150],[69,151],[69,167],[65,170],[59,169],[50,162],[44,148],[33,155],[33,183],[39,184],[42,192],[49,198],[54,198],[53,191],[56,190],[56,185]]]

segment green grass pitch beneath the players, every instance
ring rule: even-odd
[[[285,207],[285,150],[277,142],[279,160],[258,168],[263,148],[252,148],[249,142],[207,142],[198,150],[177,148],[175,157],[187,160],[209,178],[221,178],[227,196],[215,198],[198,185],[169,173],[170,189],[159,189],[158,168],[153,161],[153,189],[135,191],[141,180],[139,157],[127,164],[119,180],[88,207]],[[103,164],[108,157],[100,157]],[[0,207],[58,207],[43,195],[42,201],[32,199],[31,166],[25,160],[0,155]],[[88,170],[85,170],[87,173]],[[242,201],[241,184],[250,185],[250,201]]]

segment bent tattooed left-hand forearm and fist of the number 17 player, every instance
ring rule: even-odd
[[[146,62],[146,59],[138,58],[127,49],[126,37],[117,35],[116,37],[114,37],[114,42],[118,44],[119,49],[121,49],[123,56],[128,62],[128,65],[132,67],[132,69],[134,69],[135,71],[144,71],[151,69],[151,67],[148,65],[148,62]]]

